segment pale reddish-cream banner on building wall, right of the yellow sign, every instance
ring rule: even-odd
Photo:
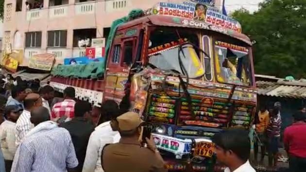
[[[29,68],[39,69],[39,70],[51,70],[54,64],[54,54],[44,53],[35,54],[30,58]]]

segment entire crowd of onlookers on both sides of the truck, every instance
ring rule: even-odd
[[[49,84],[11,75],[0,78],[6,100],[0,102],[0,172],[167,172],[154,139],[141,140],[143,121],[137,113],[107,100],[95,125],[92,105],[76,101],[73,87],[58,99]],[[255,159],[261,147],[261,161],[267,151],[271,166],[277,163],[282,136],[280,109],[279,102],[271,110],[260,106],[256,117]],[[306,164],[305,117],[303,110],[296,113],[282,136],[290,172],[302,172]],[[224,130],[212,141],[218,161],[228,167],[225,172],[255,172],[247,131]]]

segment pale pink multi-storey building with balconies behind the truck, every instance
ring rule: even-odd
[[[2,50],[22,50],[19,66],[33,54],[55,54],[57,63],[84,56],[79,39],[107,37],[113,20],[159,1],[186,0],[5,0]]]

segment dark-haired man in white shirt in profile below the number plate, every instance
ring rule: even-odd
[[[214,135],[217,160],[226,165],[224,172],[256,172],[249,162],[251,143],[247,131],[230,129]]]

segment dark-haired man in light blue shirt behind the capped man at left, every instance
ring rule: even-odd
[[[23,86],[13,86],[12,87],[12,96],[7,99],[7,105],[17,105],[20,108],[24,109],[23,101],[26,98],[27,94],[25,93],[25,87]]]

